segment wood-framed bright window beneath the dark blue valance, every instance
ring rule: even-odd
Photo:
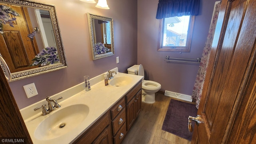
[[[195,16],[160,20],[158,51],[190,52]]]

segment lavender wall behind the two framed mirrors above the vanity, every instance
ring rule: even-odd
[[[68,68],[10,82],[20,109],[83,82],[84,75],[92,78],[115,67],[127,72],[129,66],[137,63],[137,0],[108,0],[110,10],[79,0],[40,2],[56,6]],[[92,60],[87,12],[114,19],[114,56]],[[117,56],[119,64],[116,64]],[[32,82],[38,95],[27,98],[23,85]]]

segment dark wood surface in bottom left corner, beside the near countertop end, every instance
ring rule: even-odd
[[[0,139],[1,144],[9,144],[11,139],[18,139],[17,141],[24,144],[33,144],[2,68],[0,68]]]

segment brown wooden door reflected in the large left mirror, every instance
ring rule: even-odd
[[[10,6],[10,5],[6,5]],[[20,6],[11,6],[20,16],[16,16],[14,27],[3,24],[4,34],[0,35],[0,53],[6,61],[10,72],[18,72],[36,68],[30,66],[32,59],[39,53],[36,39],[28,38],[34,30],[30,22],[28,10]],[[14,17],[13,15],[10,15]]]

